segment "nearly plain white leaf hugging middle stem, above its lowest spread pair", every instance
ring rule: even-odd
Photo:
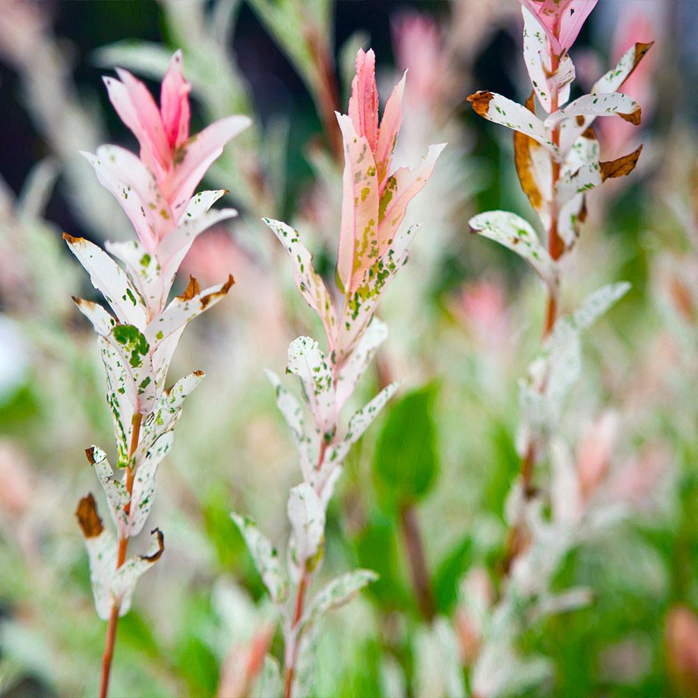
[[[325,540],[325,507],[315,490],[306,482],[293,487],[288,497],[288,569],[298,584],[306,567],[315,567],[318,552]]]

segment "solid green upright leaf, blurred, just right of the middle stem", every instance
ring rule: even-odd
[[[384,505],[395,507],[424,497],[436,481],[438,452],[430,383],[394,404],[378,437],[373,477]]]

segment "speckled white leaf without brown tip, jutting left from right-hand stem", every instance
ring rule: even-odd
[[[509,211],[487,211],[470,218],[469,225],[473,232],[516,252],[535,269],[549,288],[556,288],[557,265],[540,244],[535,230],[521,216]]]

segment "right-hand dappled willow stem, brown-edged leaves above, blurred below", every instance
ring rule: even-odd
[[[600,160],[593,122],[616,116],[639,124],[640,107],[622,94],[630,76],[651,44],[637,43],[618,65],[603,75],[590,94],[567,103],[574,80],[569,50],[595,0],[521,0],[523,53],[533,91],[526,105],[489,91],[468,97],[485,119],[514,131],[514,157],[523,191],[547,236],[544,246],[527,221],[507,211],[488,211],[470,220],[470,228],[518,253],[540,276],[547,290],[542,348],[521,382],[519,438],[521,473],[507,503],[510,532],[503,560],[502,597],[480,624],[480,654],[473,668],[477,695],[502,695],[540,680],[544,662],[519,660],[514,652],[517,623],[528,617],[559,611],[588,600],[573,593],[552,600],[549,583],[567,550],[586,533],[589,522],[571,515],[579,486],[569,447],[558,436],[565,396],[581,371],[579,336],[625,295],[629,285],[604,286],[569,315],[559,316],[561,263],[572,251],[586,218],[586,193],[606,179],[629,174],[641,147],[614,161]],[[537,116],[536,98],[544,117]],[[540,112],[539,112],[540,113]],[[552,515],[544,514],[544,499],[534,486],[536,466],[550,454]],[[468,589],[466,584],[466,604]],[[537,603],[537,607],[533,604]],[[478,614],[475,613],[477,616]]]

